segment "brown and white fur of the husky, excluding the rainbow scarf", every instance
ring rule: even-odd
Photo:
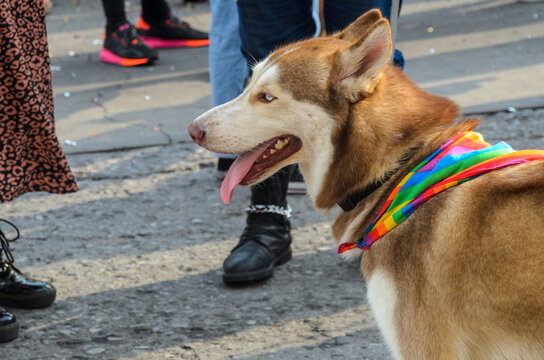
[[[190,131],[226,152],[292,132],[301,150],[263,179],[300,162],[319,209],[394,172],[336,218],[335,238],[356,242],[414,166],[478,124],[455,123],[457,105],[388,65],[389,36],[373,11],[336,35],[278,49],[238,99]],[[256,101],[263,92],[275,100]],[[544,359],[543,173],[544,161],[533,161],[443,191],[364,253],[369,302],[397,358]]]

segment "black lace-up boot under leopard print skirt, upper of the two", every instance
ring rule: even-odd
[[[0,219],[0,222],[16,232],[15,237],[8,239],[0,228],[0,306],[35,309],[51,305],[55,301],[56,289],[46,282],[26,278],[13,265],[9,243],[19,238],[19,229],[9,221]]]

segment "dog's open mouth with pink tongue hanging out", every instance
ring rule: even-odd
[[[302,141],[293,135],[283,135],[240,154],[231,165],[221,185],[221,200],[230,203],[238,184],[256,182],[270,167],[287,159],[302,147]]]

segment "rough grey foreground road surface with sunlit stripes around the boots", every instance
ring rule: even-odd
[[[486,140],[544,148],[544,110],[485,114]],[[2,205],[22,238],[17,265],[51,281],[49,309],[12,311],[10,360],[390,359],[358,264],[334,251],[329,221],[292,196],[294,257],[262,284],[226,287],[248,189],[220,202],[215,160],[188,142],[74,154],[81,191]]]

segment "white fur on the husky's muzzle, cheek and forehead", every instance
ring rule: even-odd
[[[281,86],[279,78],[277,64],[269,60],[257,64],[251,82],[240,96],[195,120],[206,133],[201,145],[218,153],[241,153],[277,136],[297,136],[302,140],[301,150],[276,164],[267,175],[300,163],[308,193],[315,197],[332,159],[334,120],[322,107],[295,100]],[[260,102],[257,100],[260,93],[276,99],[271,103]]]

